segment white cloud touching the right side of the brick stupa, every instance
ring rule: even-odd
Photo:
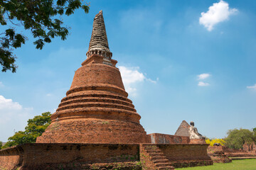
[[[118,68],[121,72],[122,81],[124,83],[125,90],[127,91],[128,94],[132,96],[137,95],[136,86],[139,82],[149,81],[154,84],[156,83],[156,81],[147,79],[142,72],[139,72],[139,67],[119,66]]]

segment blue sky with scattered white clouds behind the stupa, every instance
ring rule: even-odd
[[[256,127],[256,1],[91,1],[64,17],[68,39],[14,50],[18,69],[0,73],[0,141],[26,120],[54,112],[86,59],[92,21],[103,11],[113,59],[146,132],[174,135],[182,120],[207,137]],[[20,30],[20,29],[18,29]]]

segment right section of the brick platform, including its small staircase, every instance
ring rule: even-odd
[[[207,147],[208,144],[140,144],[142,167],[174,169],[212,165]]]

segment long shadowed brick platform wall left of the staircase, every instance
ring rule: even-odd
[[[52,164],[94,164],[136,162],[139,145],[122,144],[26,144],[0,151],[0,167],[15,169],[42,169]]]

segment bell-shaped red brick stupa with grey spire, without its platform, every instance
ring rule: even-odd
[[[87,60],[37,143],[144,143],[141,116],[112,60],[102,11],[93,21]]]

